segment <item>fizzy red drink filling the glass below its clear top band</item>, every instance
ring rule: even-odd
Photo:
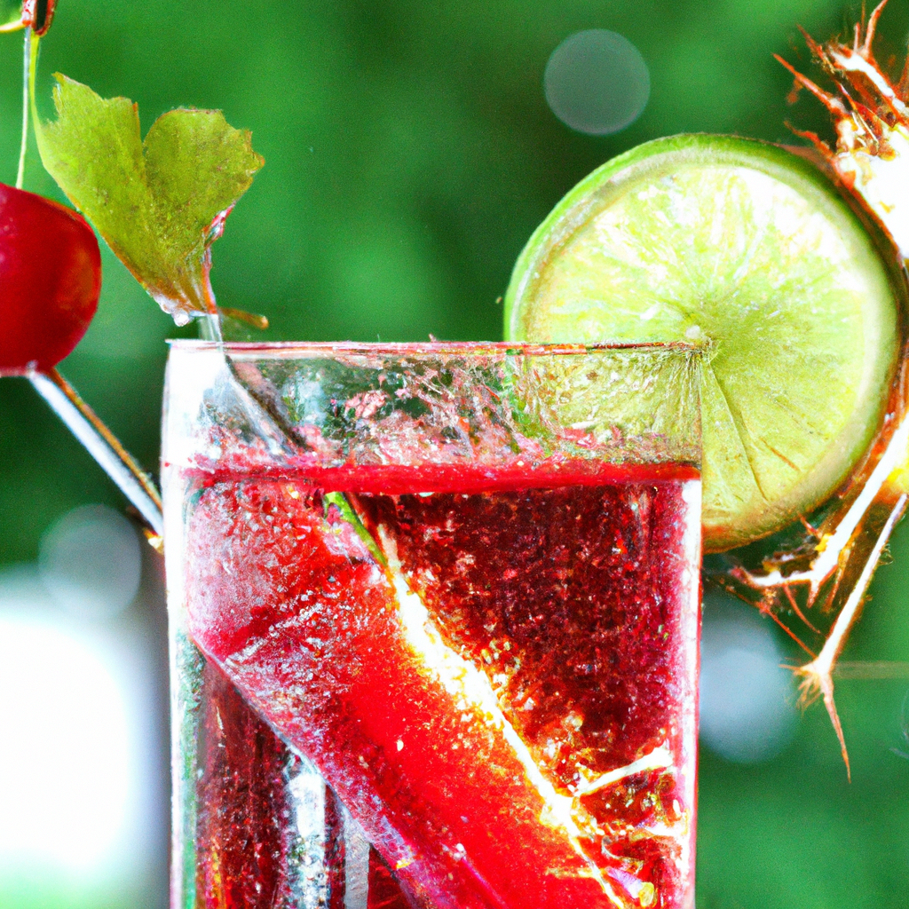
[[[693,905],[700,481],[556,466],[183,472],[196,907]]]

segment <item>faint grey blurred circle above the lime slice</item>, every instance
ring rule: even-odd
[[[633,124],[650,97],[644,57],[623,35],[603,28],[565,38],[546,64],[543,82],[554,115],[588,135]]]

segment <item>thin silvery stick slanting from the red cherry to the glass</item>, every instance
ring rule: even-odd
[[[160,538],[164,534],[161,495],[120,440],[55,369],[47,373],[33,373],[29,379],[35,386],[35,391],[85,445],[88,453],[120,487],[121,492],[135,505],[135,509]],[[156,544],[154,539],[149,542]]]

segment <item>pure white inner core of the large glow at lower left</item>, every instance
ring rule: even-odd
[[[0,613],[0,871],[86,872],[108,860],[130,807],[132,735],[98,648]]]

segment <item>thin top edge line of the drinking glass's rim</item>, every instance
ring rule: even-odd
[[[536,341],[210,341],[168,338],[167,345],[184,351],[227,350],[239,355],[294,355],[312,353],[348,355],[524,355],[568,356],[619,351],[640,353],[702,354],[704,345],[692,341],[598,341],[567,344]]]

